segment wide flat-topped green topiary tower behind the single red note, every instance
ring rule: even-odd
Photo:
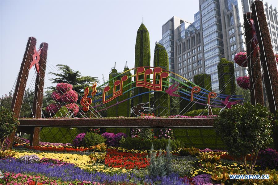
[[[208,75],[208,74],[198,74],[198,75],[195,75],[193,77],[193,79],[194,79],[194,84],[196,84],[199,87],[204,88],[208,91],[212,91],[210,75]],[[207,95],[203,94],[202,92],[199,92],[197,94],[200,95],[200,96],[208,97]],[[196,99],[196,98],[194,98],[194,99]],[[199,100],[198,102],[201,102],[201,101]],[[204,103],[204,102],[201,102],[201,103]],[[200,105],[200,104],[197,104],[197,103],[195,103],[193,106],[195,106],[194,107],[195,110],[207,108],[207,106]]]

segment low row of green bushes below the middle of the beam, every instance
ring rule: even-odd
[[[151,145],[154,145],[155,150],[159,150],[160,147],[166,148],[167,146],[167,139],[141,139],[141,138],[122,138],[120,140],[120,147],[129,149],[129,150],[149,150]],[[182,144],[180,143],[179,139],[175,139],[171,141],[171,147],[173,150],[177,148],[181,148]]]

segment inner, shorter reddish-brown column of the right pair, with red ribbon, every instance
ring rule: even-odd
[[[263,81],[259,50],[251,47],[253,42],[253,30],[249,24],[251,16],[252,14],[250,12],[247,12],[243,15],[251,103],[253,105],[259,103],[264,106]]]

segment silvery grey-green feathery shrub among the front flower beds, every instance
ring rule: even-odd
[[[154,151],[154,145],[150,148],[150,158],[149,163],[150,166],[148,166],[148,171],[150,172],[150,175],[153,177],[157,176],[165,176],[170,175],[172,172],[171,167],[171,159],[173,158],[173,154],[171,154],[171,140],[168,140],[167,146],[166,146],[166,154],[162,154],[161,148],[159,151],[159,154],[157,155],[157,152]]]

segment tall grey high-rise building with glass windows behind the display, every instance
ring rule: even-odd
[[[233,61],[236,53],[246,50],[243,14],[250,12],[250,7],[251,0],[199,0],[193,23],[175,16],[167,21],[162,26],[160,42],[168,52],[171,71],[192,82],[196,74],[210,74],[212,89],[219,92],[217,64],[221,58]],[[267,3],[265,8],[273,47],[278,53],[277,10]],[[167,37],[167,33],[173,36]],[[235,77],[247,73],[237,64],[234,68]]]

